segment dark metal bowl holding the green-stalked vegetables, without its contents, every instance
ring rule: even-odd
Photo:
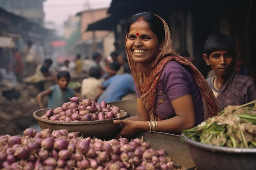
[[[182,134],[198,170],[255,170],[255,148],[211,146],[193,141]]]

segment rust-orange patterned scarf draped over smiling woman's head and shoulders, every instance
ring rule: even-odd
[[[160,17],[159,17],[160,18]],[[156,99],[156,92],[157,92],[157,84],[159,81],[159,77],[168,62],[171,60],[175,60],[180,64],[186,65],[189,70],[191,71],[193,77],[195,78],[195,82],[198,84],[200,93],[202,94],[204,110],[209,111],[209,116],[215,116],[219,111],[219,106],[217,104],[216,98],[213,95],[211,87],[209,86],[208,82],[198,71],[198,69],[184,57],[178,55],[175,52],[173,47],[173,42],[171,40],[171,33],[168,28],[167,23],[161,18],[164,23],[164,30],[165,30],[165,43],[161,51],[157,53],[155,60],[153,60],[150,68],[150,76],[143,81],[144,73],[141,70],[139,63],[132,60],[132,57],[129,55],[128,62],[130,65],[132,77],[135,81],[135,84],[141,94],[141,100],[148,110],[148,114],[150,116],[150,121],[159,120],[157,115],[155,114],[155,99]],[[127,35],[126,35],[127,40]],[[127,52],[127,48],[126,48]],[[128,54],[128,53],[127,53]],[[205,115],[206,113],[204,113]]]

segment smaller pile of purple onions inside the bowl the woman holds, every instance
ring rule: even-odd
[[[79,97],[70,98],[70,102],[63,103],[61,107],[49,109],[43,119],[52,121],[93,121],[121,117],[117,106],[110,106],[105,101],[97,103],[90,99],[80,102]]]

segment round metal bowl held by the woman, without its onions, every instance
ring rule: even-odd
[[[111,139],[113,136],[118,134],[119,125],[114,124],[115,119],[125,119],[127,113],[120,110],[121,117],[105,119],[105,120],[94,120],[94,121],[52,121],[40,118],[46,113],[47,109],[37,110],[33,113],[33,117],[37,119],[41,129],[49,128],[50,130],[61,130],[67,129],[69,132],[79,132],[79,136],[83,137],[96,137],[99,139]],[[54,109],[54,108],[52,108]]]

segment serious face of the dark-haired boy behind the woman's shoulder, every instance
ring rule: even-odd
[[[234,69],[234,56],[229,51],[214,51],[209,57],[207,57],[206,54],[203,54],[203,57],[205,62],[211,65],[211,68],[217,76],[226,77]]]

